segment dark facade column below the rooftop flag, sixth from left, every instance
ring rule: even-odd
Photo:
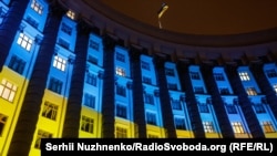
[[[160,100],[161,100],[161,108],[164,127],[166,129],[167,138],[176,138],[176,129],[173,118],[171,97],[167,89],[167,81],[165,75],[165,63],[166,59],[162,56],[154,56],[155,70],[158,79],[158,87],[160,87]]]

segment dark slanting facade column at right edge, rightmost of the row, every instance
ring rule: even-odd
[[[276,105],[277,95],[273,86],[270,85],[267,76],[265,75],[263,67],[264,67],[263,63],[253,63],[249,69],[255,80],[257,81],[259,89],[261,90],[261,93],[266,95],[267,104],[269,104],[275,118],[277,118],[277,105]]]

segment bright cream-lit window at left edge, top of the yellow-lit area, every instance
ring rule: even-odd
[[[9,102],[13,102],[18,87],[6,79],[0,84],[0,96]]]

